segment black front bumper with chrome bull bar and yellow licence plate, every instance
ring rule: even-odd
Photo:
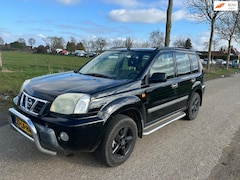
[[[45,118],[45,120],[48,119]],[[55,120],[57,121],[57,119]],[[53,118],[50,118],[50,121],[53,121]],[[67,122],[67,119],[64,119],[63,122]],[[101,121],[74,126],[45,121],[44,125],[44,123],[34,122],[15,108],[9,109],[9,123],[13,129],[34,142],[39,151],[50,155],[56,155],[57,152],[94,151],[100,143],[103,125]],[[60,132],[67,132],[69,141],[62,141]]]

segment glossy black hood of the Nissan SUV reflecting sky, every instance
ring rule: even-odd
[[[92,95],[121,86],[128,81],[65,72],[33,78],[24,90],[34,97],[52,101],[63,93],[86,93]]]

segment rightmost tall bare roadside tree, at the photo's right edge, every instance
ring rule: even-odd
[[[236,39],[237,26],[240,23],[240,12],[239,11],[229,11],[225,12],[219,18],[219,22],[216,24],[217,34],[221,39],[228,41],[228,51],[227,51],[227,69],[230,60],[230,54],[232,49],[232,40]]]

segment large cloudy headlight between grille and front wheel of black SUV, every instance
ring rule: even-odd
[[[50,111],[60,114],[83,114],[87,113],[89,103],[88,94],[66,93],[53,101]]]

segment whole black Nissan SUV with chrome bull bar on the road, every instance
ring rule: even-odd
[[[196,118],[204,89],[194,51],[116,48],[78,70],[26,80],[9,119],[41,152],[95,151],[117,166],[137,137]]]

